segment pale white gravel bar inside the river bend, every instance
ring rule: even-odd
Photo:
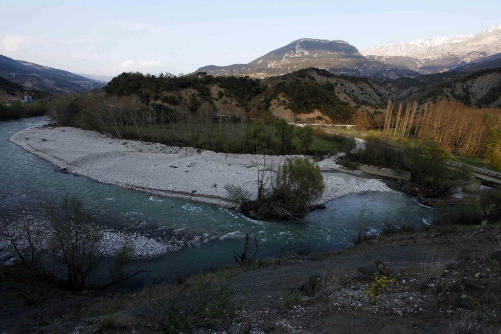
[[[234,207],[224,190],[226,184],[241,185],[254,194],[258,166],[264,162],[276,166],[297,157],[215,153],[109,138],[71,127],[35,126],[16,133],[10,140],[60,168],[99,182],[220,207]],[[341,167],[334,159],[318,164],[324,172],[326,188],[317,203],[352,193],[392,191],[378,179],[328,173]]]

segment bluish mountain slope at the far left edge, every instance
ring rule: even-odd
[[[0,55],[0,77],[23,85],[26,89],[48,93],[82,93],[104,87],[104,83],[47,66],[16,61]]]

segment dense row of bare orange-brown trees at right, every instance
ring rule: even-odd
[[[440,101],[418,109],[416,102],[397,108],[389,101],[383,133],[418,138],[464,156],[482,157],[501,169],[501,109]]]

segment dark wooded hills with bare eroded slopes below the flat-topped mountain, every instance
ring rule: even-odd
[[[378,113],[385,109],[388,99],[398,102],[412,97],[417,100],[423,93],[428,97],[418,100],[425,103],[432,100],[435,88],[440,85],[474,76],[480,80],[478,78],[484,78],[488,73],[492,76],[492,73],[498,72],[489,71],[469,76],[462,72],[447,72],[384,81],[334,75],[316,68],[265,79],[213,77],[203,72],[184,77],[122,73],[104,90],[110,95],[138,96],[147,105],[163,105],[166,108],[196,110],[206,103],[221,113],[237,116],[273,115],[294,122],[301,114],[311,115],[312,121],[317,123],[344,123],[350,122],[358,111]],[[484,89],[491,92],[490,95],[495,94],[497,81],[482,79],[481,82],[485,85]],[[477,95],[482,92],[471,91],[469,97],[478,101]],[[449,94],[446,98],[464,100],[457,94]],[[499,102],[495,97],[489,97],[489,101],[489,106]],[[468,101],[465,103],[472,105]]]

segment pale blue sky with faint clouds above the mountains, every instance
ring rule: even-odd
[[[363,50],[499,24],[499,0],[0,0],[0,54],[74,73],[178,75],[248,63],[300,38]]]

